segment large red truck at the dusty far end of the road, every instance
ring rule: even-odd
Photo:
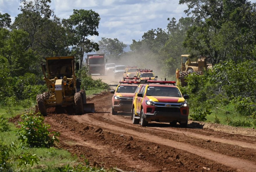
[[[88,54],[86,59],[86,64],[88,66],[89,75],[105,74],[105,55],[104,54]]]

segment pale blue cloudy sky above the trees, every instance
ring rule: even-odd
[[[20,0],[0,0],[0,12],[10,14],[13,22],[20,13],[19,4]],[[166,28],[168,17],[186,17],[187,9],[186,5],[179,5],[179,0],[52,0],[50,5],[61,19],[69,18],[73,9],[98,12],[99,36],[90,39],[118,38],[125,44],[131,44],[132,39],[141,40],[143,33],[152,28]]]

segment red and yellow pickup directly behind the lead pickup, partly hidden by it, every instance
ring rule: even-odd
[[[119,83],[115,90],[111,90],[111,93],[114,94],[112,97],[112,115],[118,114],[118,111],[131,112],[132,99],[140,81],[125,78]]]

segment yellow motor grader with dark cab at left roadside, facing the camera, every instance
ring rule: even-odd
[[[81,83],[75,75],[74,56],[45,59],[46,65],[41,65],[48,92],[36,96],[36,108],[41,114],[47,115],[47,107],[56,107],[57,110],[62,106],[73,106],[78,115],[94,112],[94,104],[86,103],[85,90],[80,89]],[[79,63],[76,63],[76,69],[79,69]]]

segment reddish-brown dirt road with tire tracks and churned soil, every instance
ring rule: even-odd
[[[107,76],[102,80],[118,84]],[[111,114],[112,96],[89,99],[95,103],[93,114],[47,109],[47,123],[61,132],[60,146],[92,165],[125,171],[256,171],[255,136],[202,129],[191,121],[188,128],[166,123],[142,128],[132,124],[130,113]]]

